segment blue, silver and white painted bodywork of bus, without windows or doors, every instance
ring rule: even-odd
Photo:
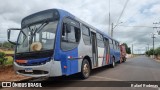
[[[114,49],[111,49],[110,47],[106,49],[106,47],[98,47],[97,46],[97,63],[98,65],[94,67],[93,63],[93,55],[92,55],[92,45],[85,45],[82,35],[82,24],[88,25],[87,23],[79,20],[72,14],[57,9],[60,15],[60,19],[57,25],[57,31],[55,36],[55,43],[54,43],[54,53],[51,57],[51,60],[47,62],[44,65],[38,65],[38,66],[19,66],[14,62],[14,68],[15,70],[24,70],[25,68],[32,68],[33,70],[44,70],[49,72],[48,74],[22,74],[25,76],[33,76],[33,77],[40,77],[40,76],[62,76],[62,75],[71,75],[78,72],[81,72],[81,66],[83,59],[85,57],[89,57],[91,60],[91,66],[92,69],[112,64],[112,57],[115,57],[116,62],[120,60],[120,52],[119,50],[115,51]],[[81,31],[81,37],[79,44],[76,48],[68,51],[63,51],[61,49],[61,30],[62,30],[62,23],[63,19],[65,17],[71,17],[72,19],[77,20],[80,23],[80,31]],[[92,26],[88,25],[88,27],[93,28]],[[103,37],[107,39],[111,39],[107,35],[103,34],[103,32],[98,31],[97,29],[92,30],[90,29],[90,32],[94,33],[100,33],[103,35]],[[108,51],[109,50],[109,51]]]

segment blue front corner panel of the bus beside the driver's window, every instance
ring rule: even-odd
[[[60,21],[59,26],[57,28],[57,37],[56,37],[56,45],[54,52],[54,59],[61,61],[61,69],[63,75],[70,75],[78,72],[78,48],[75,48],[70,51],[62,51],[61,49],[61,29],[62,22],[65,16],[68,16],[68,13],[63,13],[63,11],[59,10]],[[66,68],[65,68],[66,67]]]

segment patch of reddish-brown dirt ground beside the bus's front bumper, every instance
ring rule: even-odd
[[[13,70],[13,66],[0,66],[0,81],[19,81],[23,79],[28,79],[30,77],[25,77],[22,75],[17,75]]]

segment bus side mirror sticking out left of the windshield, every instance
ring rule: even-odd
[[[8,29],[7,30],[8,42],[10,42],[13,45],[16,45],[17,44],[16,40],[18,38],[18,34],[19,34],[20,30],[21,29],[18,29],[18,28],[10,28],[10,29]]]

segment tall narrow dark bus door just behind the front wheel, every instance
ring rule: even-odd
[[[94,67],[98,66],[98,52],[97,52],[97,38],[96,33],[91,32],[91,40],[92,40],[92,60]]]

